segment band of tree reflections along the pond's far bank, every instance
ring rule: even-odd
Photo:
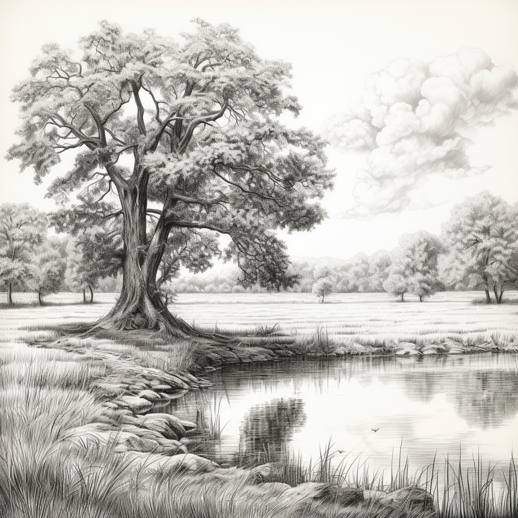
[[[248,392],[275,392],[290,386],[314,387],[325,394],[327,383],[355,380],[369,386],[374,380],[397,386],[411,401],[429,404],[444,394],[457,415],[469,426],[496,428],[518,413],[518,373],[516,358],[492,355],[437,356],[426,358],[344,357],[335,361],[300,361],[276,364],[265,369],[260,364],[227,369],[224,385],[232,398]]]

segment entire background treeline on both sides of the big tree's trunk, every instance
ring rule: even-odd
[[[325,301],[331,293],[387,292],[404,300],[407,293],[422,301],[437,291],[482,290],[487,302],[500,303],[506,290],[518,288],[518,204],[483,191],[451,210],[440,236],[426,231],[404,234],[392,251],[359,253],[348,260],[293,257],[289,275],[297,276],[287,291],[313,292]],[[80,227],[75,235],[49,237],[60,228],[55,215],[28,204],[0,206],[0,282],[11,292],[37,292],[38,298],[59,291],[81,291],[93,301],[94,290],[118,292],[124,256],[117,226]],[[146,253],[145,250],[142,253]],[[170,238],[156,293],[170,300],[175,293],[261,293],[243,287],[243,271],[228,268],[205,277],[179,278],[180,267],[194,273],[221,256],[217,236]]]

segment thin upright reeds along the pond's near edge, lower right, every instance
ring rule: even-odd
[[[330,439],[314,463],[311,459],[304,462],[300,453],[286,448],[280,459],[269,459],[274,467],[271,480],[291,486],[325,482],[387,493],[415,486],[434,497],[438,518],[518,518],[518,469],[512,454],[505,467],[486,464],[480,455],[472,456],[469,467],[461,462],[459,451],[456,463],[449,456],[442,462],[434,458],[431,465],[410,473],[409,459],[403,458],[401,452],[402,443],[399,451],[392,452],[387,479],[385,470],[372,470],[361,454],[341,452]],[[504,483],[501,491],[495,489],[497,468]]]

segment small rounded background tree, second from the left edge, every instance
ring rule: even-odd
[[[57,293],[63,286],[66,258],[60,250],[61,242],[57,238],[45,240],[36,249],[28,267],[26,286],[38,294],[38,303],[43,304],[43,297]]]

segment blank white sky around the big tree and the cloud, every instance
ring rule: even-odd
[[[493,63],[509,63],[518,70],[516,0],[92,0],[87,4],[4,0],[0,9],[0,203],[26,201],[44,210],[54,207],[51,200],[43,198],[47,182],[34,185],[31,172],[19,175],[18,164],[3,159],[7,148],[15,142],[13,130],[18,125],[17,107],[8,100],[10,90],[28,75],[27,68],[42,44],[56,41],[75,48],[77,39],[94,30],[103,18],[120,23],[125,31],[155,27],[169,36],[189,31],[189,20],[197,16],[213,24],[229,22],[239,27],[243,39],[252,42],[262,57],[293,64],[293,93],[304,107],[298,123],[315,132],[320,132],[326,118],[346,111],[350,103],[361,98],[368,74],[397,57],[429,62],[461,47],[480,47]],[[426,184],[424,194],[429,201],[441,205],[404,211],[395,217],[378,216],[370,221],[336,217],[353,205],[355,174],[366,162],[362,157],[328,148],[329,166],[338,172],[335,189],[323,202],[329,219],[312,233],[285,236],[289,252],[293,256],[348,258],[361,251],[390,250],[405,232],[423,228],[439,233],[440,223],[448,219],[451,207],[467,195],[488,189],[508,202],[515,202],[517,143],[515,112],[511,117],[498,119],[491,130],[479,132],[468,151],[471,165],[491,164],[492,169],[477,178],[435,178]]]

